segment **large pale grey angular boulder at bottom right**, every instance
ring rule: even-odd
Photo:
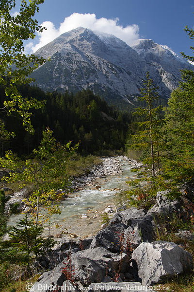
[[[160,283],[192,268],[192,255],[173,242],[142,242],[132,254],[143,285]]]

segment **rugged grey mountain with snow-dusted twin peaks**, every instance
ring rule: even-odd
[[[44,90],[78,91],[90,88],[109,103],[135,103],[146,72],[168,98],[178,86],[179,69],[194,68],[167,46],[140,39],[131,47],[113,35],[79,27],[39,49],[50,58],[32,77]]]

